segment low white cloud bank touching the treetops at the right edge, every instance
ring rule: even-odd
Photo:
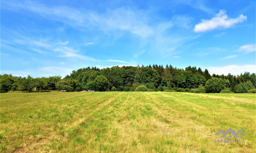
[[[219,67],[209,67],[207,68],[210,74],[224,74],[228,73],[239,75],[244,72],[255,73],[256,65],[227,65]]]

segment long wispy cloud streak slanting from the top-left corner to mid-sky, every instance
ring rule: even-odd
[[[147,12],[136,9],[117,8],[100,14],[93,10],[74,9],[67,6],[48,7],[33,1],[5,2],[5,5],[13,11],[33,12],[47,19],[69,24],[72,27],[93,28],[101,31],[127,31],[141,37],[153,34],[153,28],[146,24],[148,22]]]

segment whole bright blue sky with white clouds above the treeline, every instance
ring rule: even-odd
[[[1,74],[138,64],[256,72],[255,1],[1,1]]]

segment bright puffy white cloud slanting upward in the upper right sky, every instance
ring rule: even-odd
[[[247,19],[247,16],[241,14],[237,18],[229,18],[225,10],[220,10],[220,12],[213,18],[209,20],[202,19],[199,24],[194,28],[194,32],[207,32],[214,29],[226,29],[230,28],[232,25],[243,22]]]

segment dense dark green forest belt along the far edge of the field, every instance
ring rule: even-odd
[[[15,77],[0,75],[0,91],[39,92],[49,90],[81,91],[176,91],[206,93],[255,92],[256,75],[210,75],[208,70],[188,66],[185,69],[166,65],[113,66],[73,70],[70,75],[49,78]]]

